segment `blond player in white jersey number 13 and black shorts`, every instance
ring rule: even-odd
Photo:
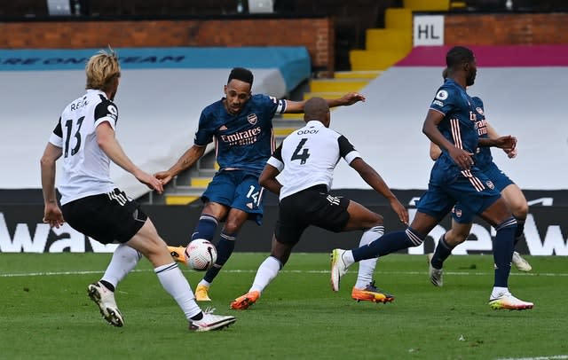
[[[61,113],[40,160],[43,223],[59,228],[66,222],[102,244],[120,243],[103,277],[87,286],[89,297],[110,325],[124,325],[114,292],[142,255],[154,266],[164,290],[177,301],[190,331],[207,332],[232,325],[236,321],[233,316],[201,311],[191,286],[171,259],[154,223],[109,177],[112,160],[140,183],[163,192],[162,181],[138,168],[114,136],[118,110],[112,100],[121,76],[118,56],[112,49],[99,51],[87,62],[85,73],[87,93]],[[56,161],[61,158],[64,163],[59,208],[55,173]]]

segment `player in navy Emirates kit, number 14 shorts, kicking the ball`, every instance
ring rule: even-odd
[[[263,188],[258,176],[274,151],[272,117],[275,113],[303,113],[305,101],[291,101],[266,95],[253,95],[254,75],[234,67],[224,86],[225,97],[205,107],[193,145],[166,171],[156,177],[168,184],[174,176],[193,166],[205,153],[207,144],[216,145],[220,167],[207,190],[201,195],[203,208],[191,239],[214,241],[217,226],[224,222],[215,244],[217,262],[209,269],[195,291],[199,301],[210,301],[209,288],[229,260],[242,226],[247,220],[262,223]],[[328,99],[329,106],[351,106],[365,97],[356,92]],[[178,261],[185,259],[185,247],[170,247]]]

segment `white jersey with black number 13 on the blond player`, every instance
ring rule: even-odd
[[[110,159],[97,143],[95,129],[108,121],[115,129],[118,109],[100,90],[87,90],[67,105],[50,137],[63,150],[63,173],[59,182],[61,205],[112,191]]]

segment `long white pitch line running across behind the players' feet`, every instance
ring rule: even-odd
[[[192,271],[185,270],[184,271]],[[132,270],[132,272],[150,272],[154,271],[148,270]],[[50,277],[50,276],[61,276],[61,275],[89,275],[89,274],[101,274],[105,270],[75,270],[75,271],[45,271],[45,272],[21,272],[21,273],[0,273],[0,278],[18,278],[18,277]],[[224,272],[230,273],[251,273],[256,272],[256,270],[224,270]],[[325,274],[329,270],[280,270],[284,273],[305,273],[305,274]],[[428,271],[375,271],[376,274],[383,275],[424,275]],[[492,272],[463,272],[463,271],[445,271],[446,275],[461,275],[461,276],[489,276]],[[511,273],[511,276],[521,276],[521,277],[568,277],[568,273],[554,273],[554,272],[539,272],[539,273]]]

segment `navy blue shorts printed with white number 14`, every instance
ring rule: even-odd
[[[224,170],[213,176],[201,200],[238,208],[260,225],[263,223],[263,192],[258,176],[242,170]]]

